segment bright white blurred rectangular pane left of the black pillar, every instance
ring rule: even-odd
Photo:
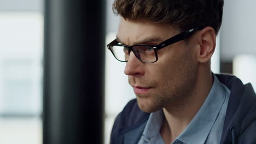
[[[0,13],[0,113],[42,111],[43,16]]]

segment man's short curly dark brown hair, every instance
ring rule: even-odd
[[[124,19],[170,23],[182,31],[210,26],[217,34],[223,5],[223,0],[115,0],[113,11]]]

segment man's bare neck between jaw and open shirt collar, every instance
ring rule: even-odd
[[[199,70],[195,87],[187,99],[163,109],[165,120],[160,133],[165,141],[172,142],[187,128],[210,92],[212,83],[211,70]],[[165,139],[165,137],[169,138]]]

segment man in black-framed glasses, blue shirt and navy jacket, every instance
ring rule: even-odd
[[[110,143],[256,143],[251,84],[211,72],[223,0],[115,0],[108,49],[126,62],[136,98]]]

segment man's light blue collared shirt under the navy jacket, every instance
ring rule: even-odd
[[[229,94],[230,89],[214,75],[214,82],[205,102],[172,144],[220,143]],[[163,119],[162,110],[151,113],[138,144],[164,144],[159,132]]]

